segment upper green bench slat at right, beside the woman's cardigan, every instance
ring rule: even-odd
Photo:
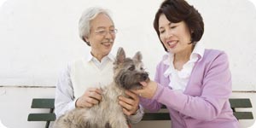
[[[253,108],[250,99],[230,99],[231,108]]]

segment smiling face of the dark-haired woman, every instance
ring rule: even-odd
[[[184,21],[172,23],[167,20],[166,15],[160,15],[159,19],[160,40],[166,49],[173,54],[192,52],[191,36],[189,27]]]

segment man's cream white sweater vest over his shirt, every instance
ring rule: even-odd
[[[113,81],[113,61],[100,70],[92,61],[79,60],[71,65],[70,73],[75,99],[90,87],[102,87]]]

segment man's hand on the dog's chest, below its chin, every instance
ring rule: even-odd
[[[129,98],[119,96],[119,105],[123,107],[123,112],[126,115],[135,114],[137,109],[139,109],[139,97],[131,90],[125,90],[125,94],[129,96]]]

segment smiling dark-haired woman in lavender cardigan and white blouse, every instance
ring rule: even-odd
[[[172,128],[237,128],[230,108],[231,74],[227,55],[204,49],[204,23],[184,0],[160,5],[154,29],[167,54],[156,67],[154,81],[142,82],[143,108],[158,111],[166,105]]]

